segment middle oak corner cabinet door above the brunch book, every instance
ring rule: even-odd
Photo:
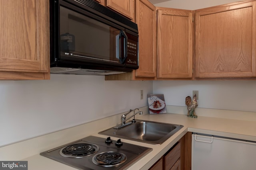
[[[158,78],[192,78],[193,13],[157,10]]]

